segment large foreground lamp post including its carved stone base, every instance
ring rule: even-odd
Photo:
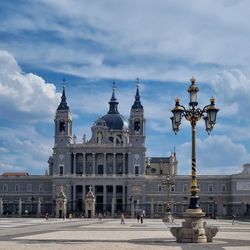
[[[208,134],[212,131],[216,123],[216,115],[219,111],[215,107],[215,99],[212,97],[210,99],[210,104],[206,105],[204,108],[199,108],[197,96],[199,88],[195,84],[195,79],[192,77],[190,80],[191,84],[188,88],[188,93],[190,95],[189,107],[185,108],[180,105],[180,99],[176,98],[175,107],[172,109],[173,117],[172,129],[175,134],[178,133],[179,127],[181,125],[181,119],[184,117],[191,124],[192,131],[192,178],[190,184],[190,203],[188,209],[184,212],[185,222],[181,228],[171,228],[171,232],[177,238],[177,242],[196,242],[202,243],[207,241],[212,241],[211,232],[208,227],[204,227],[203,217],[205,213],[202,212],[199,203],[199,196],[197,193],[200,191],[198,188],[198,182],[196,178],[196,152],[195,152],[195,133],[197,122],[203,118],[206,125],[206,131]],[[210,230],[210,231],[209,231]],[[215,230],[217,233],[217,229]],[[214,231],[214,232],[215,232]],[[192,233],[190,233],[192,232]],[[215,233],[215,234],[216,234]],[[215,236],[213,235],[213,237]]]

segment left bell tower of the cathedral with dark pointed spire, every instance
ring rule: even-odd
[[[61,102],[55,115],[55,147],[64,147],[72,141],[72,114],[66,102],[63,86]]]

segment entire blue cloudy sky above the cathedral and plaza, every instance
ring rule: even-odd
[[[175,98],[220,108],[210,135],[197,126],[197,174],[235,174],[250,163],[250,1],[0,1],[0,173],[44,174],[62,79],[77,141],[108,111],[112,82],[127,119],[140,79],[147,156],[175,150],[191,172],[191,126],[177,135]]]

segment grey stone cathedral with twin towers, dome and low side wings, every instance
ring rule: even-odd
[[[63,87],[55,112],[54,147],[45,175],[0,175],[0,216],[162,217],[167,207],[181,216],[189,202],[190,176],[178,175],[175,152],[146,156],[146,117],[135,89],[127,120],[119,113],[113,86],[109,109],[80,143]],[[250,164],[233,175],[198,176],[201,207],[208,216],[250,215]]]

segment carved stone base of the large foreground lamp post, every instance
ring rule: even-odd
[[[212,238],[218,232],[217,227],[207,227],[203,221],[205,213],[201,208],[187,209],[184,212],[185,221],[182,227],[172,227],[170,229],[177,242],[182,243],[206,243],[212,242]]]

